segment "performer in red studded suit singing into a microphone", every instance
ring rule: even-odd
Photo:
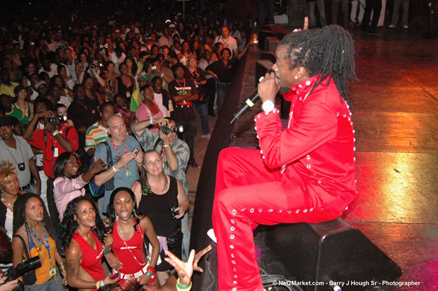
[[[348,83],[353,40],[338,26],[290,33],[258,84],[261,151],[228,148],[217,166],[213,227],[219,291],[262,291],[252,229],[258,224],[320,223],[340,216],[356,195]],[[282,131],[275,96],[291,101]]]

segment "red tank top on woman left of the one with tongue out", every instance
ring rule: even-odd
[[[96,249],[90,246],[79,232],[75,232],[72,238],[78,242],[80,251],[82,251],[82,262],[80,262],[80,267],[82,267],[82,269],[84,269],[84,271],[86,271],[89,276],[92,276],[94,281],[97,282],[105,278],[105,271],[103,271],[102,266],[103,246],[93,231],[92,236],[94,241],[96,241]]]

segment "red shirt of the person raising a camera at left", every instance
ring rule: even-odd
[[[68,125],[63,123],[59,128],[59,133],[62,136],[66,137],[66,129]],[[44,132],[46,133],[46,137],[44,137]],[[68,130],[68,136],[66,137],[73,144],[73,150],[77,151],[79,148],[79,138],[78,132],[74,127],[71,127]],[[54,161],[56,161],[57,157],[64,153],[66,149],[61,147],[56,137],[52,135],[48,130],[37,129],[34,131],[34,140],[28,141],[28,143],[32,147],[36,147],[37,149],[41,149],[43,151],[43,168],[44,173],[53,179],[53,167]]]

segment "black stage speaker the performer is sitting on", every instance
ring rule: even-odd
[[[395,262],[340,218],[326,223],[268,226],[264,240],[296,281],[325,283],[301,286],[306,290],[333,290],[328,288],[330,281],[350,283],[340,286],[342,291],[368,290],[372,281],[379,286],[381,281],[395,281],[402,275]]]

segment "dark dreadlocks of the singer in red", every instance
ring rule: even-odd
[[[310,76],[319,75],[313,89],[327,80],[336,84],[346,102],[351,105],[348,84],[356,81],[354,71],[354,45],[351,34],[338,25],[330,25],[322,29],[309,29],[289,33],[280,45],[289,47],[286,58],[289,59],[290,69],[302,66]]]

